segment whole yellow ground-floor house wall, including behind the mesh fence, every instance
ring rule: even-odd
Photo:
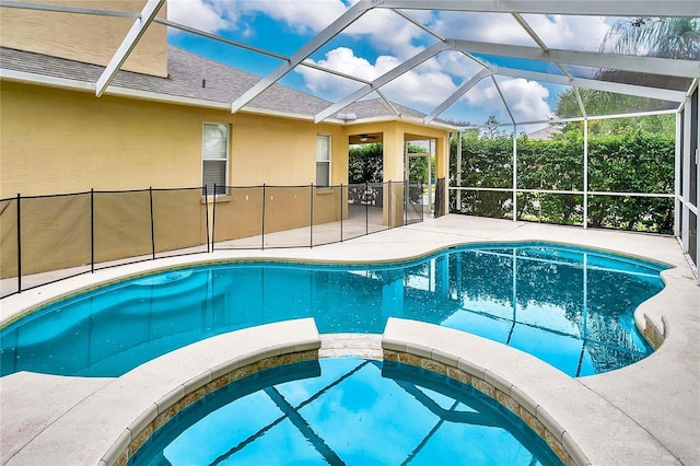
[[[150,255],[148,188],[201,186],[203,123],[231,125],[229,185],[267,185],[267,233],[307,226],[312,197],[314,223],[347,214],[340,189],[311,189],[317,133],[331,136],[331,184],[348,182],[348,138],[340,126],[116,96],[96,98],[88,92],[10,81],[1,83],[0,100],[0,196],[86,193],[22,201],[23,275],[90,263],[91,203],[97,226],[96,261]],[[94,193],[91,202],[91,189],[147,190]],[[154,191],[153,201],[155,253],[206,244],[207,219],[211,226],[213,212],[210,203],[207,213],[199,189]],[[260,234],[261,201],[261,188],[232,189],[218,197],[215,240]],[[10,246],[16,233],[12,222],[2,223],[2,277],[12,277],[16,248]],[[75,234],[63,237],[68,231]],[[61,237],[66,244],[57,247]]]

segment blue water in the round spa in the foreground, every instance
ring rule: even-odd
[[[234,382],[180,411],[131,465],[556,465],[520,418],[444,375],[323,359]]]

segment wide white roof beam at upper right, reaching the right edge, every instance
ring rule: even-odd
[[[538,47],[490,44],[474,40],[455,40],[455,43],[457,49],[472,54],[682,78],[697,78],[700,75],[700,61],[693,60],[673,60],[668,58],[635,57],[631,55],[560,49],[542,51]]]

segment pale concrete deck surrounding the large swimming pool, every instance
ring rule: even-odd
[[[646,315],[651,325],[665,331],[664,343],[657,351],[639,363],[606,374],[571,378],[559,373],[532,384],[529,389],[533,392],[525,395],[553,406],[556,412],[549,410],[550,415],[567,418],[555,419],[559,424],[574,426],[573,443],[593,464],[700,465],[700,287],[673,237],[446,215],[314,248],[217,251],[100,270],[5,298],[1,302],[0,316],[7,322],[42,301],[70,290],[192,261],[236,258],[386,261],[424,255],[455,244],[534,240],[591,246],[663,261],[674,268],[662,273],[666,288],[638,310],[639,317]],[[638,323],[650,325],[644,318],[638,318]],[[358,340],[347,347],[342,341],[336,345],[329,345],[329,341],[322,336],[322,356],[359,354],[362,346]],[[368,346],[375,343],[376,339],[371,339]],[[521,374],[518,380],[536,378],[534,374],[539,364],[523,365],[521,359],[511,357],[516,350],[495,345],[493,348],[491,356],[481,359],[483,364],[490,364],[486,370],[515,374],[514,377]],[[84,464],[97,464],[118,440],[105,432],[121,432],[129,426],[121,426],[125,421],[117,416],[122,407],[107,405],[100,416],[95,416],[100,422],[115,419],[121,423],[109,429],[91,422],[90,418],[71,423],[70,429],[65,421],[114,381],[31,373],[0,378],[0,462],[33,465],[38,457],[36,453],[43,452],[45,457],[51,458],[51,464],[74,464],[71,462],[75,458],[71,456],[73,451],[80,444],[91,444],[95,454],[85,457]],[[579,399],[571,399],[572,386],[582,394]],[[564,408],[569,405],[572,409],[567,415]],[[109,412],[115,416],[110,417]],[[59,442],[60,439],[65,442]]]

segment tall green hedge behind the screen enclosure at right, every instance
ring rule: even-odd
[[[456,143],[451,148],[451,186],[456,186]],[[513,183],[513,140],[463,135],[462,186],[510,188]],[[588,190],[612,193],[674,191],[673,138],[638,130],[588,140]],[[517,188],[583,190],[583,137],[568,132],[557,140],[517,139]],[[463,190],[451,211],[481,217],[512,218],[511,193]],[[673,233],[673,199],[588,196],[588,225],[631,231]],[[521,193],[516,215],[558,224],[583,223],[583,196]]]

